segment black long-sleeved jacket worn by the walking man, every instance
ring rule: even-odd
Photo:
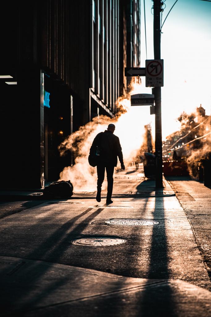
[[[119,138],[111,131],[105,130],[96,135],[92,146],[90,147],[90,154],[96,152],[96,147],[100,147],[100,162],[105,165],[117,165],[117,156],[120,163],[123,164],[123,155]]]

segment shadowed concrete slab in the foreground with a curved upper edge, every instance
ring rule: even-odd
[[[0,258],[0,268],[1,316],[208,317],[211,314],[211,293],[181,280],[123,277],[11,257]]]

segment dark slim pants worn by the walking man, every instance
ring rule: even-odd
[[[105,177],[105,169],[107,174],[107,181],[108,181],[108,187],[107,187],[107,199],[111,199],[112,191],[113,191],[113,174],[114,174],[114,166],[112,165],[105,165],[105,164],[99,164],[97,165],[97,190],[101,190],[102,183],[104,181]]]

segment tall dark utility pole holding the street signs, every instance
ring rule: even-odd
[[[161,0],[154,3],[154,59],[160,60],[160,12]],[[163,187],[163,159],[162,159],[162,122],[161,122],[161,87],[154,87],[155,96],[155,157],[156,157],[156,188]]]

